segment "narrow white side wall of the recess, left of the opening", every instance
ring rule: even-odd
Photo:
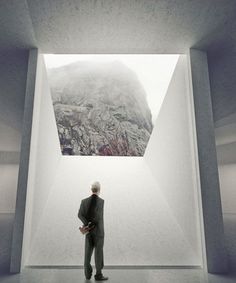
[[[60,157],[59,138],[46,69],[43,56],[39,55],[32,122],[23,261],[27,261],[31,240],[46,205]]]

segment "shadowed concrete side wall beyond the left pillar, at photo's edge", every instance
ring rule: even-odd
[[[28,52],[0,51],[0,272],[9,271]]]

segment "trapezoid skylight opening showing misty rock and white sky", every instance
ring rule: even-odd
[[[63,155],[143,156],[178,55],[45,55]]]

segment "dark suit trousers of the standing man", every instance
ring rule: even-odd
[[[84,256],[84,273],[86,278],[90,278],[93,268],[90,264],[94,252],[96,275],[102,274],[103,263],[103,245],[104,237],[99,237],[90,232],[85,236],[85,256]]]

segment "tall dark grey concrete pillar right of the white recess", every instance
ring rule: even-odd
[[[226,272],[228,260],[224,243],[223,217],[215,146],[207,56],[190,49],[195,105],[202,208],[209,272]]]

